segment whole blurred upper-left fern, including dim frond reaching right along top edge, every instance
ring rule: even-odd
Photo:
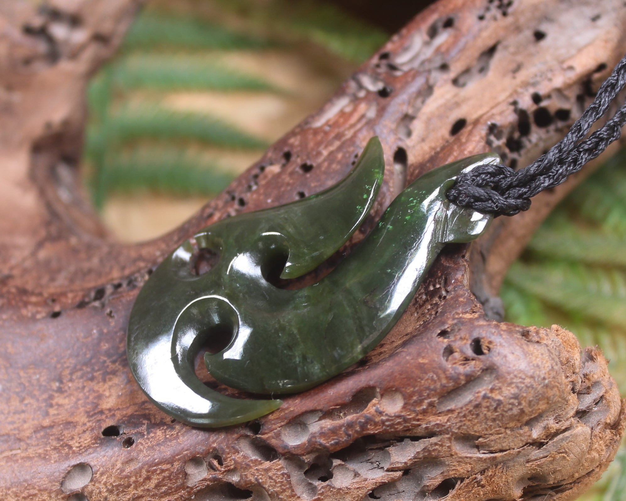
[[[85,160],[98,209],[114,192],[219,193],[233,174],[205,155],[185,153],[191,143],[259,154],[267,147],[264,139],[225,120],[162,104],[175,91],[285,95],[264,78],[220,63],[227,51],[285,50],[298,38],[362,60],[386,39],[327,4],[270,0],[263,6],[247,3],[238,13],[241,4],[233,0],[212,9],[216,19],[207,6],[182,12],[175,3],[148,5],[128,31],[120,56],[91,81]],[[223,24],[224,14],[233,13],[238,29]]]

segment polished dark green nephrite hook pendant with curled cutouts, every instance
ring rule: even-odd
[[[384,159],[372,138],[344,180],[292,204],[242,214],[195,235],[217,261],[195,274],[189,240],[141,289],[128,326],[128,361],[148,398],[195,426],[249,421],[280,400],[244,400],[198,380],[193,361],[212,336],[230,343],[206,353],[212,376],[232,388],[276,395],[307,390],[354,364],[391,330],[447,242],[469,242],[491,215],[458,207],[446,191],[464,170],[499,163],[476,155],[426,173],[389,205],[374,230],[321,281],[276,287],[326,261],[369,214]]]

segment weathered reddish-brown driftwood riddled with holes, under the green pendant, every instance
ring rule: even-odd
[[[446,249],[359,366],[246,426],[158,411],[131,378],[125,329],[175,245],[331,185],[372,135],[387,172],[369,225],[450,160],[495,150],[525,165],[623,55],[622,0],[441,0],[224,194],[141,245],[108,238],[77,181],[86,80],[137,2],[36,5],[0,3],[1,498],[565,500],[600,476],[624,426],[602,354],[556,326],[486,319],[476,299],[498,316],[506,266],[567,187]]]

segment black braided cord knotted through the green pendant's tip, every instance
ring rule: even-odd
[[[495,216],[515,215],[521,210],[528,210],[531,197],[560,185],[620,137],[622,126],[626,123],[626,105],[584,139],[625,85],[626,56],[602,83],[593,103],[573,123],[567,135],[548,152],[517,172],[506,165],[496,164],[481,165],[461,174],[448,190],[448,199],[457,205]]]

